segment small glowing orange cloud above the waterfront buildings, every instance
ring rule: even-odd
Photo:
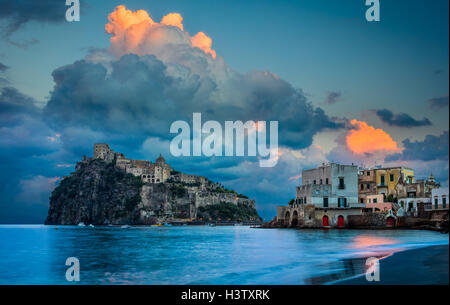
[[[374,151],[398,151],[397,142],[383,129],[377,129],[366,122],[351,120],[355,128],[346,137],[348,148],[357,154]]]

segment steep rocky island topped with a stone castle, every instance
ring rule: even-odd
[[[203,176],[127,159],[95,144],[50,197],[45,224],[152,225],[162,222],[260,221],[255,201]]]

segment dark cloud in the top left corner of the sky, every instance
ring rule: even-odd
[[[9,38],[30,21],[64,21],[65,4],[65,0],[0,0],[0,20],[5,27],[3,37]]]

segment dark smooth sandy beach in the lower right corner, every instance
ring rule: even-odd
[[[335,285],[448,285],[449,246],[431,246],[395,253],[380,261],[380,281],[365,275]]]

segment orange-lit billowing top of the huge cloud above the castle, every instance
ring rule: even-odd
[[[211,49],[212,39],[203,32],[191,37],[184,31],[183,17],[178,13],[169,13],[158,23],[144,10],[133,12],[119,5],[108,20],[105,31],[111,35],[111,50],[117,56],[155,55],[173,45],[187,45],[216,58],[216,51]]]

